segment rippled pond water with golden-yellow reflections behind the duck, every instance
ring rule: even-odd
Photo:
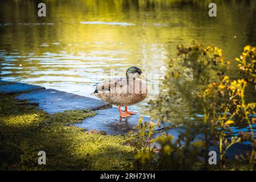
[[[43,2],[46,18],[37,16],[39,1],[1,2],[2,80],[90,96],[110,69],[124,76],[137,65],[162,78],[180,43],[219,46],[230,60],[256,44],[255,1],[216,1],[217,18],[208,16],[209,1]]]

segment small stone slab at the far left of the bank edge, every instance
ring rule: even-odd
[[[9,82],[0,80],[0,93],[22,93],[42,89],[46,88],[42,86],[23,84],[20,82]]]

